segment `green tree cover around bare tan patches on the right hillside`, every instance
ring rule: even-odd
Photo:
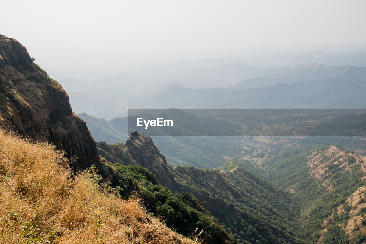
[[[329,147],[322,145],[283,148],[266,161],[264,166],[266,171],[262,173],[284,189],[293,190],[293,195],[299,200],[303,212],[301,216],[303,232],[307,233],[312,242],[317,242],[322,236],[322,230],[326,228],[327,232],[321,239],[323,243],[348,243],[348,235],[340,227],[345,228],[350,219],[349,213],[352,208],[346,200],[359,187],[365,185],[362,181],[365,174],[360,169],[361,165],[355,163],[355,157],[348,155],[349,151],[345,151],[344,156],[349,165],[347,170],[338,164],[333,164],[341,156],[325,156]],[[344,151],[342,148],[339,149]],[[307,164],[312,152],[315,152],[320,162],[327,163],[323,178],[314,178],[310,173]],[[338,214],[339,206],[344,211]],[[362,211],[357,215],[361,214]],[[334,224],[324,226],[324,221]],[[353,231],[355,236],[351,243],[360,243],[357,241],[362,239],[359,230]]]

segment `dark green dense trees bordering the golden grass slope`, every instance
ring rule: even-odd
[[[235,243],[217,220],[188,192],[172,193],[158,183],[156,176],[146,168],[135,165],[113,164],[118,171],[117,184],[122,197],[138,194],[143,205],[152,214],[179,233],[193,237],[194,230],[203,229],[204,243]],[[197,235],[197,234],[196,234]]]

